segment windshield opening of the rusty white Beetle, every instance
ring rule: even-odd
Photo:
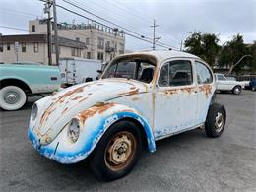
[[[156,64],[150,58],[128,57],[113,61],[106,68],[102,79],[126,78],[150,83],[153,79]]]

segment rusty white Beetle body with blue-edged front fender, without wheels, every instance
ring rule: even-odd
[[[151,74],[152,77],[140,81],[131,73],[118,75],[116,69],[113,77],[111,66],[119,61],[133,62],[134,66],[141,63],[144,70],[152,69],[153,73],[148,70],[147,73],[139,71],[135,74],[141,77]],[[181,85],[175,83],[175,78],[172,86],[164,85],[166,81],[160,83],[164,65],[167,63],[170,68],[168,63],[172,61],[189,63],[189,68],[175,72],[183,77],[186,70],[190,70],[190,77],[186,76],[191,81],[188,85],[184,85],[183,80]],[[197,62],[205,67],[203,70],[208,70],[210,77],[207,77],[207,82],[200,82]],[[145,67],[147,65],[151,66]],[[154,152],[157,140],[205,125],[216,90],[213,77],[211,68],[203,60],[188,53],[152,51],[124,54],[110,62],[99,80],[79,84],[36,101],[32,107],[28,136],[41,155],[61,163],[76,163],[89,157],[113,124],[125,119],[142,128],[148,149]],[[70,130],[74,124],[79,129]]]

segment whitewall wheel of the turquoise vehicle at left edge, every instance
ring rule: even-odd
[[[0,107],[4,110],[18,110],[26,101],[26,93],[17,86],[6,86],[0,90]]]

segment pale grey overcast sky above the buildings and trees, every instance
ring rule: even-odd
[[[62,0],[57,4],[95,19]],[[152,37],[153,20],[160,42],[180,47],[189,32],[220,34],[221,44],[240,33],[246,43],[256,40],[256,0],[69,0],[107,20],[134,32]],[[39,0],[0,0],[0,26],[28,29],[28,20],[41,18],[43,2]],[[58,22],[88,23],[87,20],[57,9]],[[105,23],[107,24],[107,23]],[[110,24],[107,24],[111,26]],[[2,34],[28,33],[0,27]],[[126,36],[126,49],[150,49],[151,44]]]

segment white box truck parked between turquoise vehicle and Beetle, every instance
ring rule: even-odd
[[[59,69],[62,85],[73,86],[96,80],[101,62],[92,59],[61,58]]]

